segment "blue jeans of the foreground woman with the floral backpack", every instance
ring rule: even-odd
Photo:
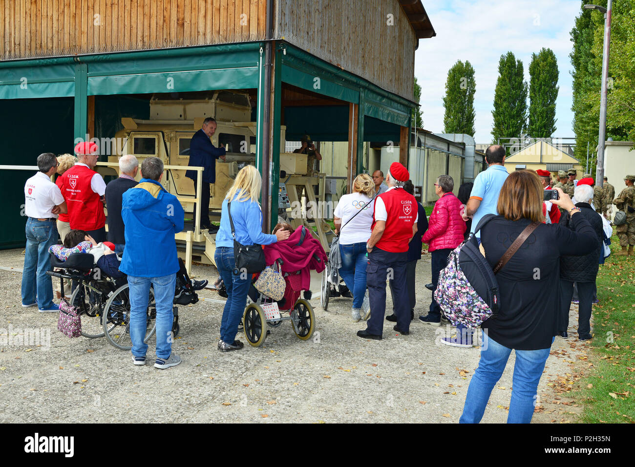
[[[553,340],[552,340],[553,342]],[[507,423],[530,423],[537,402],[538,381],[545,369],[549,356],[548,349],[516,350],[512,396],[509,403]],[[512,349],[498,344],[483,332],[483,348],[463,407],[459,423],[479,423],[490,400],[491,390],[505,370]]]

